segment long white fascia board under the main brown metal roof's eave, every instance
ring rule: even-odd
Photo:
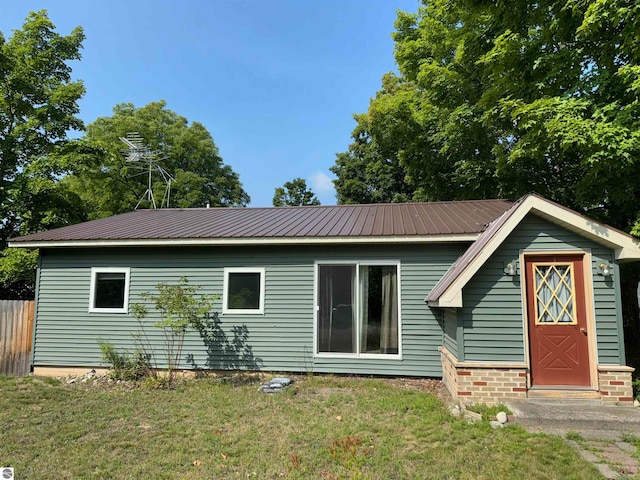
[[[180,246],[241,246],[241,245],[336,245],[473,242],[477,233],[453,235],[388,236],[388,237],[305,237],[305,238],[189,238],[145,240],[67,240],[9,242],[14,248],[73,247],[180,247]]]

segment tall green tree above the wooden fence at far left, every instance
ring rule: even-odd
[[[80,81],[69,62],[80,59],[84,33],[63,36],[46,11],[31,13],[6,39],[0,32],[0,293],[29,295],[34,252],[5,248],[8,238],[81,221],[77,196],[57,179],[69,171],[59,156],[75,143],[69,130],[82,130]]]

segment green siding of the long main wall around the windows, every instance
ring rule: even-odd
[[[181,276],[210,295],[223,291],[225,267],[265,269],[264,314],[222,314],[215,303],[215,329],[205,342],[190,332],[183,368],[247,368],[271,371],[440,376],[442,328],[424,297],[464,244],[309,247],[189,247],[51,249],[41,252],[34,364],[100,366],[98,339],[133,349],[139,331],[131,314],[89,313],[91,267],[129,267],[129,303],[142,292]],[[315,263],[399,260],[401,359],[314,356]],[[150,314],[151,325],[157,320]],[[147,326],[161,351],[162,335]],[[188,360],[188,361],[187,361]],[[162,366],[162,362],[159,362]]]

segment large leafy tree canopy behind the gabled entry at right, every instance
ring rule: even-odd
[[[640,234],[640,5],[431,0],[395,26],[340,203],[536,191]]]

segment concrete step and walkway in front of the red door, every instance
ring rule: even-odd
[[[517,425],[563,436],[605,478],[637,478],[640,467],[635,445],[640,443],[633,438],[640,439],[640,408],[606,406],[595,400],[542,399],[507,406]]]

